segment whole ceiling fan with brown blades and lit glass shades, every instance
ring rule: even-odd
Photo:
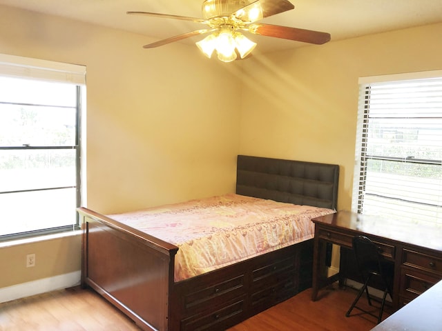
[[[218,59],[230,62],[238,57],[237,52],[243,59],[256,46],[256,43],[247,39],[241,33],[242,31],[318,45],[330,40],[330,34],[326,32],[256,23],[256,21],[265,17],[292,9],[294,9],[294,5],[288,0],[204,0],[202,3],[202,17],[204,19],[156,12],[127,12],[127,14],[181,19],[206,24],[208,26],[206,29],[178,34],[155,43],[149,43],[143,47],[155,48],[199,34],[211,33],[206,38],[198,41],[196,45],[206,57],[210,58],[213,52],[216,51]]]

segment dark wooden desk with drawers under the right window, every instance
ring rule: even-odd
[[[336,277],[327,277],[325,243],[352,248],[352,238],[364,235],[394,263],[394,310],[401,308],[442,279],[442,228],[404,223],[382,217],[369,217],[340,211],[312,219],[315,223],[314,266],[311,299]],[[337,275],[340,281],[342,277]]]

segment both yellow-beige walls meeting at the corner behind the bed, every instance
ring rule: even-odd
[[[348,209],[358,77],[441,69],[441,35],[439,24],[226,65],[0,6],[1,53],[87,66],[86,202],[105,213],[233,192],[238,152],[339,163]],[[0,249],[0,288],[79,270],[79,252],[79,237]]]

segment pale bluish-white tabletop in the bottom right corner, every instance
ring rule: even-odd
[[[372,331],[430,331],[442,328],[442,281],[392,314]]]

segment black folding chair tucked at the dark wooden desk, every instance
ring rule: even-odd
[[[376,246],[376,244],[373,243],[367,237],[364,236],[354,237],[352,245],[353,245],[354,254],[356,256],[356,263],[358,266],[358,270],[359,272],[361,272],[364,284],[361,290],[359,290],[356,299],[354,299],[352,306],[349,308],[345,316],[349,317],[350,313],[352,312],[353,308],[356,307],[356,303],[358,303],[359,299],[361,299],[361,296],[364,292],[367,293],[368,304],[372,305],[372,297],[370,297],[370,294],[368,292],[368,283],[370,279],[372,279],[372,277],[375,276],[382,281],[385,288],[383,298],[381,301],[381,308],[377,316],[378,323],[381,323],[387,294],[390,294],[390,297],[392,297],[394,265],[392,264],[392,262],[388,262],[383,259],[381,255],[381,249],[378,248],[378,246]],[[361,308],[358,308],[358,310],[362,310],[363,312],[366,312],[367,314],[376,317],[376,315],[372,314],[371,312],[367,312]]]

